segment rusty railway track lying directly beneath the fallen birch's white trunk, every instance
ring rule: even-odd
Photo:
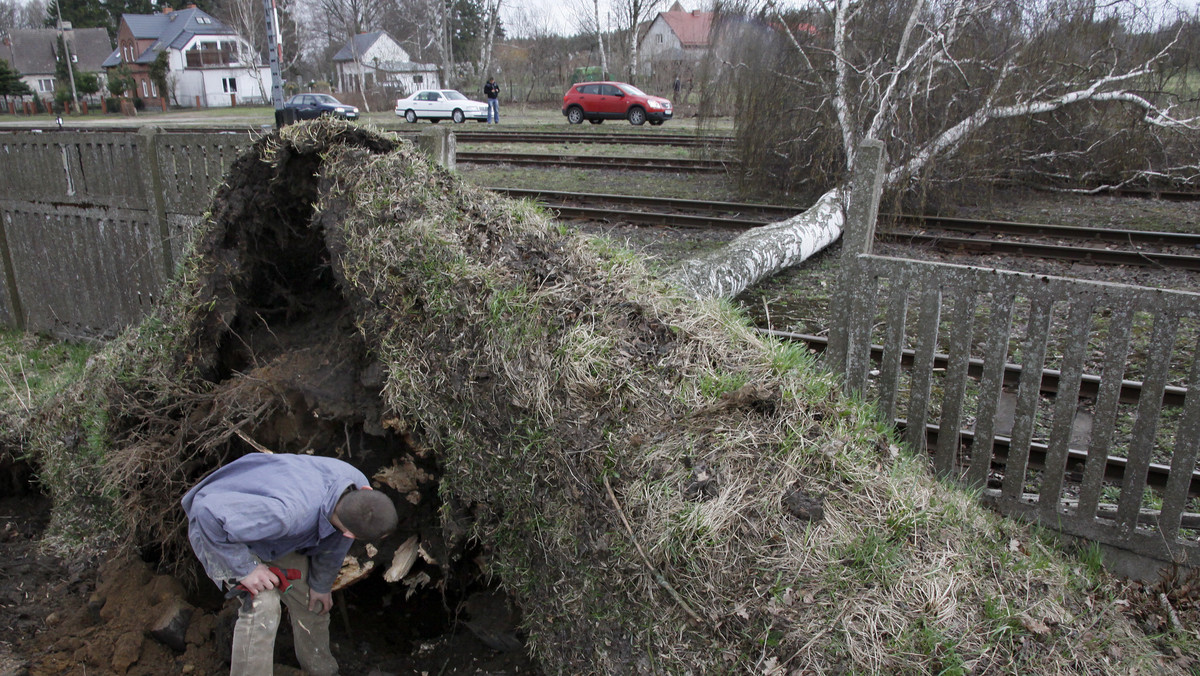
[[[800,211],[798,208],[770,204],[696,202],[515,189],[493,190],[511,197],[541,202],[564,219],[622,221],[647,226],[749,229],[794,216]],[[878,241],[889,244],[922,246],[952,253],[1024,256],[1091,264],[1200,271],[1200,256],[1147,249],[1200,251],[1200,235],[1196,234],[895,214],[884,215],[884,219],[907,226],[905,229],[882,229],[876,233]],[[930,232],[932,229],[937,232]],[[970,237],[956,233],[966,233]],[[1048,239],[1051,241],[1045,241]],[[1061,244],[1062,241],[1087,241],[1092,243],[1092,246]]]

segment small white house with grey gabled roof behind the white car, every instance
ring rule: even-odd
[[[340,91],[394,89],[407,96],[418,89],[439,89],[442,79],[433,64],[415,64],[408,52],[385,31],[362,32],[334,54]]]

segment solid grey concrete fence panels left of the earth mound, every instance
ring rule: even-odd
[[[103,339],[136,322],[242,133],[0,133],[0,322]]]

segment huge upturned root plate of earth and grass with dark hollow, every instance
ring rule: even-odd
[[[403,514],[348,566],[400,586],[365,621],[400,591],[503,590],[547,672],[1175,669],[882,430],[726,304],[320,121],[235,161],[161,304],[28,448],[52,543],[180,573],[206,472],[341,456]]]

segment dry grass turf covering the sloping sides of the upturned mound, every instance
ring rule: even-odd
[[[385,415],[438,454],[443,526],[480,544],[547,672],[1175,669],[1080,582],[1081,564],[894,454],[805,352],[727,304],[684,300],[610,243],[346,128],[288,127],[252,157],[319,157],[312,221],[292,226],[324,238],[386,366]],[[202,240],[251,227],[232,215],[215,210]],[[245,406],[186,411],[217,400],[200,387],[224,335],[215,319],[240,303],[198,251],[173,310],[110,348],[91,399],[109,411],[107,485],[126,515],[161,508],[130,495],[139,473],[161,478],[148,465],[178,485],[179,449],[217,451],[222,430],[254,423]],[[168,427],[180,417],[198,421]],[[181,445],[121,441],[154,430]],[[793,515],[798,489],[823,518]]]

